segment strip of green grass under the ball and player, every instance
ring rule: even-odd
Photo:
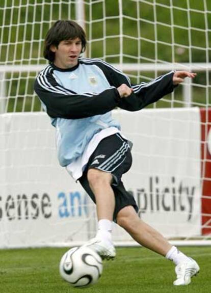
[[[210,247],[183,247],[200,265],[189,286],[173,286],[171,261],[144,248],[118,248],[114,261],[103,262],[99,282],[89,288],[72,288],[59,275],[58,263],[67,248],[0,250],[1,293],[146,293],[210,292]]]

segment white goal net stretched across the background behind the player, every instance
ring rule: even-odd
[[[86,30],[84,57],[134,84],[197,73],[140,112],[115,110],[134,143],[123,180],[139,217],[176,244],[210,244],[209,1],[3,0],[0,3],[0,247],[75,245],[95,235],[95,206],[57,162],[55,131],[33,91],[46,32],[58,19]],[[119,245],[135,245],[114,225]],[[181,242],[178,242],[181,241]]]

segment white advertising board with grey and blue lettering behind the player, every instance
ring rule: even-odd
[[[133,141],[123,175],[139,216],[167,237],[200,234],[198,109],[114,111]],[[0,247],[84,242],[96,230],[95,206],[59,166],[55,129],[45,113],[0,115]],[[130,239],[114,228],[114,241]]]

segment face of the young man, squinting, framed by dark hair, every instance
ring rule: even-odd
[[[77,59],[82,51],[82,41],[80,38],[61,41],[58,47],[51,45],[52,52],[55,52],[54,64],[67,69],[77,65]]]

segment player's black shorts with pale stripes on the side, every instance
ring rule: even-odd
[[[120,134],[114,134],[100,141],[90,156],[82,177],[78,179],[95,202],[95,196],[87,179],[88,170],[95,168],[112,174],[113,182],[111,186],[115,194],[114,221],[116,221],[118,212],[127,205],[134,206],[136,212],[138,212],[138,206],[133,195],[125,190],[121,181],[122,174],[129,170],[131,164],[132,157],[128,141],[122,138]]]

